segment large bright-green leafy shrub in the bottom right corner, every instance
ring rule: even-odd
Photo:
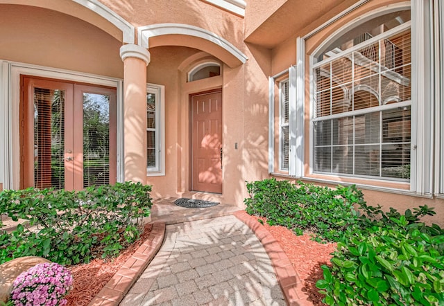
[[[405,217],[400,222],[407,224]],[[373,227],[339,242],[332,267],[323,266],[324,280],[316,283],[325,303],[443,305],[444,235],[421,227]]]

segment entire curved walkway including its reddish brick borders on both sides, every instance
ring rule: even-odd
[[[313,305],[278,242],[245,210],[163,199],[151,213],[150,236],[89,306]]]

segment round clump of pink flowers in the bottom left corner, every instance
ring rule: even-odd
[[[37,264],[14,281],[11,300],[15,306],[66,305],[72,283],[71,272],[60,264]]]

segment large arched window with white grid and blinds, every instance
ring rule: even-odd
[[[312,57],[314,173],[410,180],[410,10],[370,19]]]

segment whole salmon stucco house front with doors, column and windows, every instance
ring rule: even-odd
[[[0,0],[0,20],[0,189],[243,208],[276,177],[444,224],[441,1]]]

